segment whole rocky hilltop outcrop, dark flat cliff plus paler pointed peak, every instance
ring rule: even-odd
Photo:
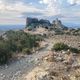
[[[43,27],[43,28],[47,28],[47,29],[68,29],[67,27],[65,27],[62,22],[60,20],[55,19],[53,20],[52,23],[50,23],[49,20],[45,20],[45,19],[38,19],[38,18],[30,18],[27,17],[26,19],[26,27],[29,29],[33,29],[36,27]]]

